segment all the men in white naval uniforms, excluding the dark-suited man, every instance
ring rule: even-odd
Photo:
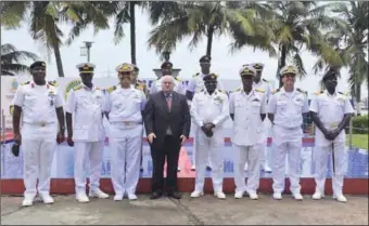
[[[300,161],[302,150],[303,115],[313,114],[317,125],[315,148],[316,192],[313,199],[323,197],[328,156],[333,156],[333,197],[346,201],[343,196],[345,163],[344,127],[353,114],[348,97],[335,90],[339,71],[329,70],[323,82],[327,90],[316,93],[308,106],[307,93],[294,87],[297,70],[284,66],[280,70],[283,87],[270,92],[268,82],[262,79],[264,65],[243,65],[240,69],[242,85],[229,96],[221,89],[218,76],[212,74],[211,57],[200,59],[201,72],[193,76],[187,90],[176,78],[174,91],[186,94],[192,118],[194,137],[195,187],[192,198],[202,196],[206,167],[212,168],[214,195],[225,199],[222,191],[224,122],[233,121],[231,142],[234,158],[234,198],[246,192],[258,199],[260,167],[268,167],[266,154],[267,119],[272,128],[272,189],[275,199],[282,199],[284,168],[288,157],[291,192],[302,200],[300,185]],[[66,103],[66,142],[75,148],[75,191],[79,202],[88,202],[86,195],[85,164],[89,162],[89,196],[109,198],[100,189],[102,150],[104,147],[103,117],[110,121],[109,143],[111,147],[111,177],[115,191],[114,200],[136,200],[136,187],[142,162],[142,114],[149,94],[148,88],[137,77],[139,68],[122,64],[116,68],[119,82],[103,90],[92,83],[94,65],[77,65],[81,84],[73,89]],[[163,76],[171,75],[173,64],[162,65]],[[56,143],[62,143],[65,132],[63,98],[58,84],[46,81],[44,62],[30,65],[33,80],[16,91],[13,105],[13,129],[15,142],[24,151],[23,205],[31,205],[37,191],[44,203],[53,203],[50,196],[51,163]],[[162,89],[161,78],[153,82],[150,93]],[[22,133],[21,133],[21,115]],[[21,135],[22,134],[22,135]],[[56,139],[55,139],[56,134]],[[244,170],[247,168],[247,183]],[[180,169],[178,169],[180,170]],[[38,180],[38,190],[36,187]]]

